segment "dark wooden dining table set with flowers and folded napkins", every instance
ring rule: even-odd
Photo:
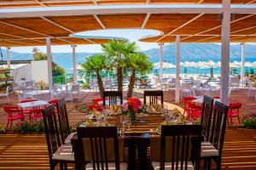
[[[181,107],[177,106],[177,110],[181,111]],[[172,105],[172,109],[173,109]],[[181,112],[180,114],[182,114]],[[161,123],[166,122],[165,116],[162,114],[137,114],[137,120],[131,122],[129,125],[123,122],[124,116],[107,116],[106,120],[109,124],[121,129],[119,136],[124,140],[124,147],[128,148],[128,169],[147,169],[148,166],[148,147],[150,147],[150,139],[159,138],[160,133],[157,133],[157,129],[160,129]],[[177,122],[173,122],[177,124]],[[78,136],[74,135],[71,139],[73,144],[73,150],[75,153],[79,153]],[[77,151],[76,151],[77,150]],[[81,160],[81,157],[74,155],[75,160]],[[139,164],[136,163],[138,157]],[[83,163],[77,161],[77,163]]]

